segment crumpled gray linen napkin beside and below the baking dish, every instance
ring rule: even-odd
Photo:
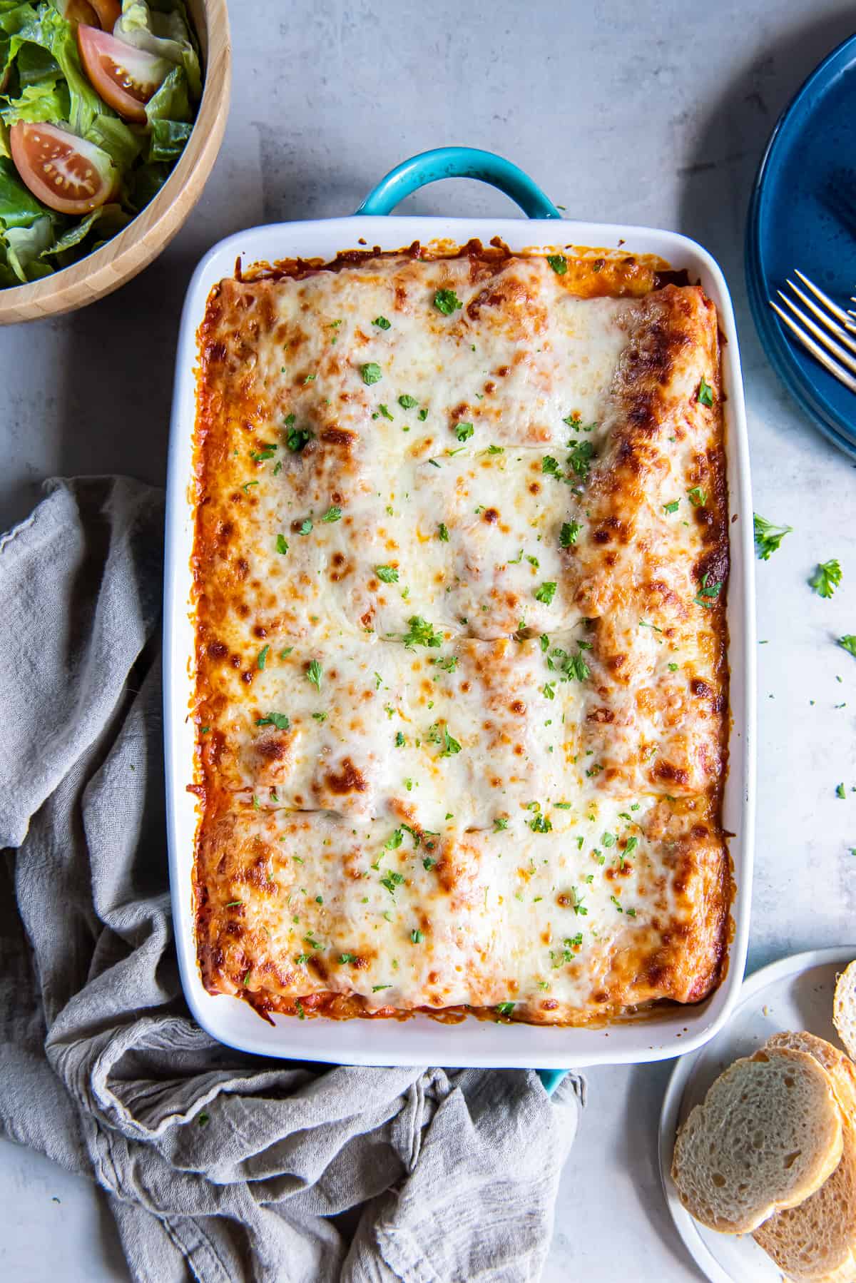
[[[94,477],[0,539],[0,1132],[103,1185],[146,1283],[536,1279],[578,1079],[254,1058],[187,1014],[162,523]]]

